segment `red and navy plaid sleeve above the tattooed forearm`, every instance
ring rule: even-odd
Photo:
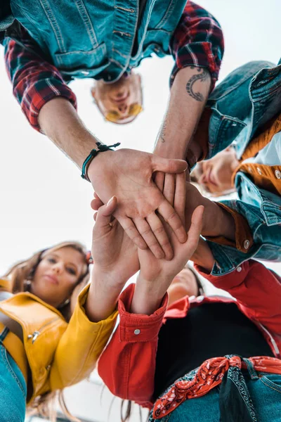
[[[193,65],[209,70],[211,89],[214,88],[223,58],[224,41],[221,26],[211,13],[188,1],[169,49],[176,60],[170,85],[178,70]]]

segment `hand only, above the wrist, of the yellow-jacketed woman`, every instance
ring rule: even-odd
[[[136,245],[126,235],[119,222],[112,217],[117,207],[113,196],[107,205],[95,194],[91,202],[96,224],[93,227],[92,257],[100,274],[113,274],[116,280],[126,283],[139,269]]]

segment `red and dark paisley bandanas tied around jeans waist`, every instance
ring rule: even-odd
[[[249,395],[241,369],[247,369],[252,379],[259,378],[256,371],[281,374],[281,360],[275,357],[244,359],[228,354],[207,359],[198,368],[179,378],[156,400],[149,422],[171,413],[186,399],[201,397],[221,384],[219,407],[221,422],[257,422],[256,411]]]

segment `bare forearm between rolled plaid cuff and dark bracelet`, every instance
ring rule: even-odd
[[[86,129],[70,101],[53,98],[41,108],[38,120],[41,132],[81,168],[98,139]]]

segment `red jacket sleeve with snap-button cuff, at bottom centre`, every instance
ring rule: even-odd
[[[100,357],[98,373],[114,395],[151,407],[158,333],[167,295],[154,314],[130,314],[134,288],[131,284],[119,298],[119,326]]]

